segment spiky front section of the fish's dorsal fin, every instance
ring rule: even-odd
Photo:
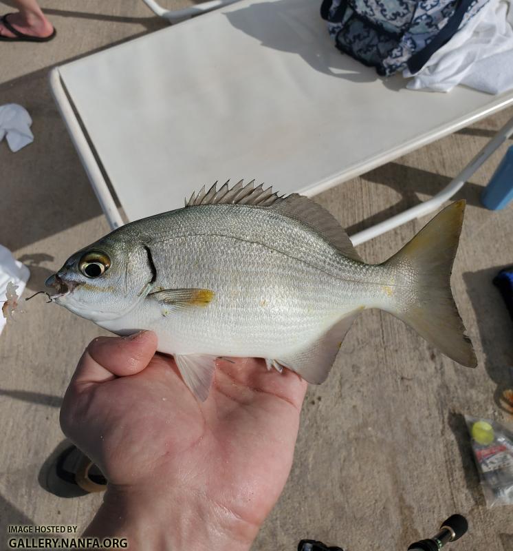
[[[197,207],[198,205],[258,205],[259,207],[270,207],[281,199],[278,194],[273,193],[272,188],[263,189],[263,184],[254,187],[254,180],[243,185],[243,180],[228,189],[226,182],[219,191],[216,191],[217,182],[205,193],[205,186],[199,194],[192,194],[185,202],[186,207]]]

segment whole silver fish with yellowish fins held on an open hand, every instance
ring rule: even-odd
[[[242,182],[131,222],[46,281],[54,300],[117,333],[157,333],[206,399],[215,358],[265,358],[322,383],[353,320],[390,312],[456,362],[477,360],[450,291],[465,202],[452,203],[382,264],[366,264],[316,202]]]

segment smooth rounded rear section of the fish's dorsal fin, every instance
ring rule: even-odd
[[[312,199],[304,195],[291,194],[276,202],[272,208],[311,227],[347,258],[363,262],[338,220]]]

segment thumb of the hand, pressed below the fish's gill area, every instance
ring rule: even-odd
[[[129,337],[98,337],[83,353],[72,386],[107,382],[140,373],[157,349],[157,335],[140,331]]]

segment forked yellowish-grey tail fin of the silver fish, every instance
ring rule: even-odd
[[[413,327],[459,364],[477,365],[472,342],[450,289],[465,200],[453,202],[428,222],[398,253],[382,264],[408,291],[398,293],[387,311]]]

